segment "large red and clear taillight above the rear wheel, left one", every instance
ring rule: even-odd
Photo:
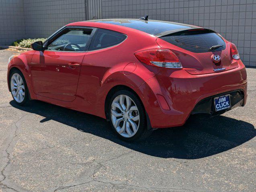
[[[136,58],[145,64],[165,67],[165,68],[182,68],[178,57],[169,49],[148,49],[136,52]]]

